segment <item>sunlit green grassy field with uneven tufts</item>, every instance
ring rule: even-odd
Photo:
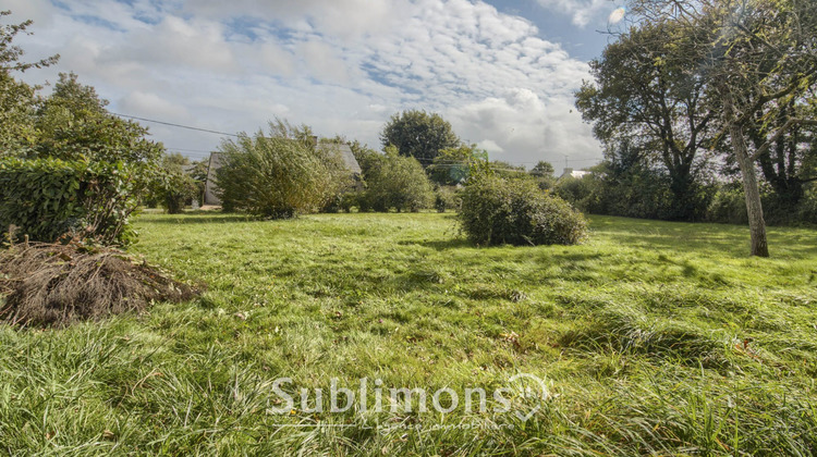
[[[207,292],[0,328],[0,453],[817,454],[813,230],[771,228],[758,259],[745,227],[618,218],[592,218],[574,247],[477,248],[436,213],[137,225],[133,250]],[[513,383],[497,411],[490,392],[517,373],[547,399]],[[483,387],[490,408],[332,413],[332,378],[461,403]],[[325,411],[302,408],[302,387],[324,390]]]

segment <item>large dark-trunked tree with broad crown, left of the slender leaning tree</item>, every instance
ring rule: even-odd
[[[590,62],[594,82],[576,94],[585,121],[605,144],[639,138],[655,151],[670,177],[674,210],[670,219],[694,220],[696,177],[706,165],[700,150],[710,146],[716,112],[704,103],[706,81],[697,63],[679,57],[683,28],[673,22],[647,22],[607,46]]]

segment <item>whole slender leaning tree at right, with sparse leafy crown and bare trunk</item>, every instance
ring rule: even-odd
[[[817,82],[817,2],[813,0],[634,0],[631,11],[643,24],[672,23],[683,46],[673,58],[695,65],[706,85],[710,112],[717,113],[741,171],[749,220],[752,255],[768,257],[766,223],[756,161],[794,125],[790,119],[769,131],[754,150],[748,129],[758,113],[772,119],[789,101],[802,99]]]

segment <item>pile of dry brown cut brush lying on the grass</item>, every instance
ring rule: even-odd
[[[0,321],[64,326],[198,291],[127,254],[81,243],[25,243],[0,251]]]

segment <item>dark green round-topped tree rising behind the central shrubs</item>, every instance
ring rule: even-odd
[[[451,124],[437,113],[410,110],[391,116],[380,133],[383,148],[394,146],[401,156],[417,159],[424,168],[441,149],[460,146]]]

